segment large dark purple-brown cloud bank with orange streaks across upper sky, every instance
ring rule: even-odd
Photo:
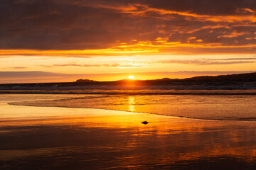
[[[254,0],[1,0],[0,49],[124,50],[133,40],[160,52],[175,51],[169,42],[245,49],[256,46],[255,10]]]

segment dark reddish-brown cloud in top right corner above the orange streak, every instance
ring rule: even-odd
[[[250,11],[246,11],[244,8],[256,9],[254,0],[146,0],[145,2],[154,8],[214,16],[245,15]]]

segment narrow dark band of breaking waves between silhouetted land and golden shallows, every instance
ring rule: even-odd
[[[230,89],[205,89],[200,87],[197,89],[196,86],[194,89],[186,88],[186,87],[178,87],[178,88],[158,88],[158,87],[141,87],[141,88],[85,88],[85,87],[66,87],[66,88],[14,88],[11,90],[3,90],[0,89],[0,94],[102,94],[102,95],[117,95],[117,94],[134,94],[134,95],[158,95],[158,94],[213,94],[213,95],[238,95],[238,94],[247,94],[247,95],[256,95],[256,89],[240,89],[240,88],[230,88]]]

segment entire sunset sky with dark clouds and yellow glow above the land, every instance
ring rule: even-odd
[[[255,0],[0,0],[0,83],[256,71]]]

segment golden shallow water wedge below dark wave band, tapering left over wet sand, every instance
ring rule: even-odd
[[[15,102],[14,105],[103,108],[208,120],[256,120],[255,95],[73,95],[52,101]]]

